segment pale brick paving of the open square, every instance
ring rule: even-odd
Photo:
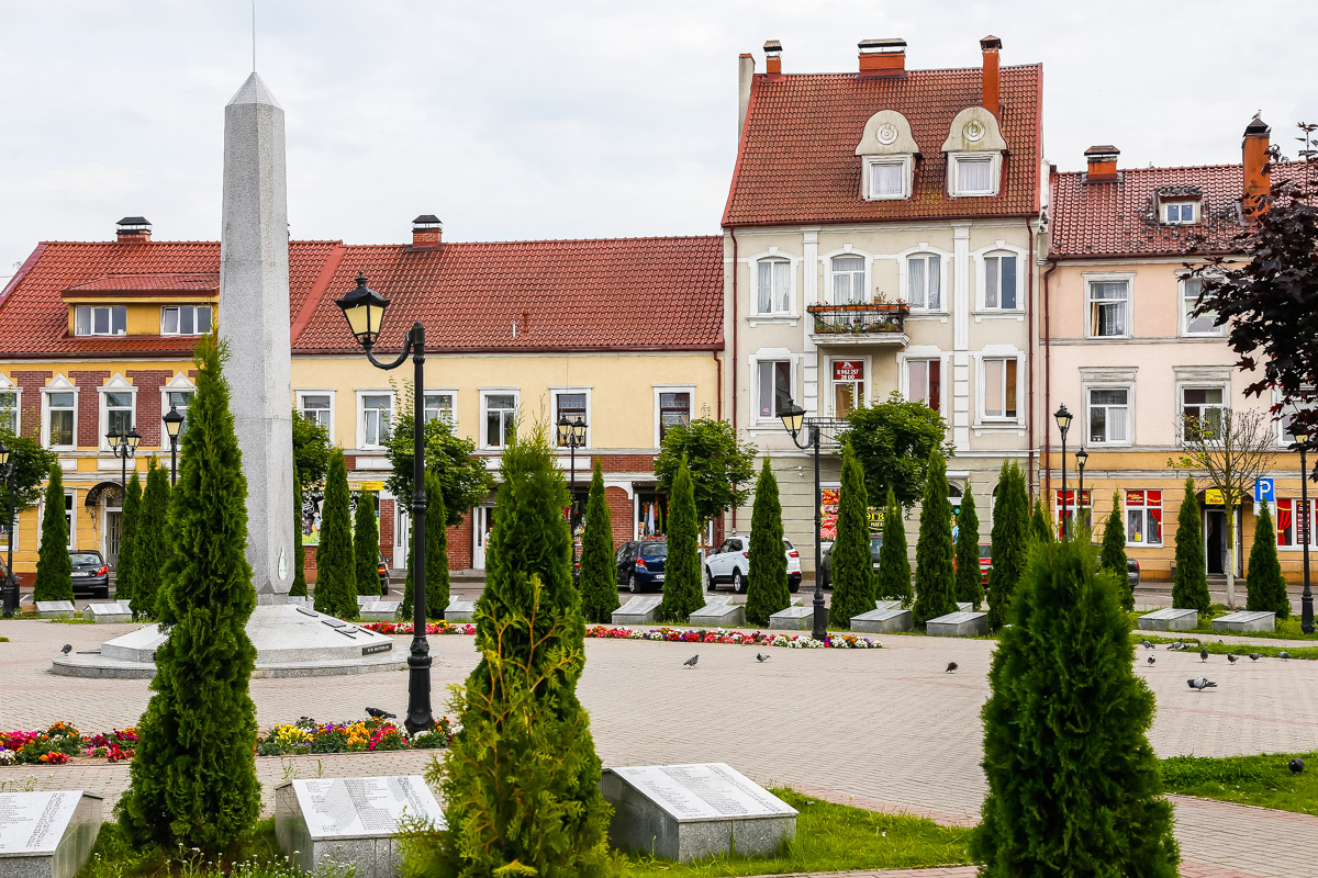
[[[137,721],[146,681],[55,677],[50,659],[65,642],[95,649],[132,625],[0,621],[0,727],[38,728],[70,720],[84,731]],[[407,638],[397,638],[406,649]],[[992,641],[917,636],[883,638],[882,650],[755,649],[722,644],[617,640],[587,642],[579,687],[606,765],[722,761],[764,785],[862,807],[905,811],[941,823],[977,821],[985,795],[979,708],[988,695]],[[431,638],[436,712],[445,687],[476,663],[472,638]],[[1228,666],[1214,657],[1159,650],[1136,673],[1157,696],[1151,740],[1160,756],[1230,756],[1309,750],[1318,741],[1318,662],[1263,659]],[[700,654],[700,665],[683,661]],[[945,674],[948,661],[960,670]],[[1207,674],[1215,690],[1195,692]],[[365,706],[403,713],[406,674],[254,679],[262,727],[298,716],[344,720]],[[424,753],[261,758],[268,806],[290,777],[418,773]],[[30,779],[29,779],[30,778]],[[125,766],[78,765],[0,770],[8,788],[86,788],[115,799]],[[1174,796],[1177,835],[1194,878],[1318,878],[1318,862],[1297,840],[1318,836],[1318,817]],[[970,873],[946,871],[949,875]],[[938,875],[938,873],[925,873]],[[942,878],[942,875],[938,875]]]

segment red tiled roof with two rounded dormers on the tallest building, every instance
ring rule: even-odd
[[[724,225],[883,222],[890,220],[1027,216],[1039,212],[1043,161],[1043,66],[1002,68],[1000,130],[1008,154],[1002,192],[949,197],[942,143],[952,120],[982,99],[983,71],[913,70],[904,76],[757,74],[733,171]],[[920,147],[912,196],[861,197],[865,122],[895,109]]]

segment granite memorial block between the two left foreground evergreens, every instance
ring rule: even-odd
[[[293,865],[307,874],[343,870],[356,878],[399,874],[401,828],[444,812],[420,775],[290,781],[274,790],[274,835]]]

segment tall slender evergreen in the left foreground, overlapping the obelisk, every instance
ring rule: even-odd
[[[130,785],[117,806],[133,844],[166,852],[232,852],[261,811],[256,706],[248,678],[256,649],[244,625],[256,607],[246,552],[246,478],[214,336],[198,344],[177,496],[170,504],[162,621],[152,700]]]

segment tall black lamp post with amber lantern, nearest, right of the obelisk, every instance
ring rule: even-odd
[[[397,369],[413,358],[413,642],[407,656],[407,719],[403,725],[415,735],[435,725],[430,712],[430,641],[426,640],[426,329],[414,323],[407,330],[402,353],[391,363],[376,359],[370,349],[380,338],[389,300],[366,286],[366,276],[357,272],[357,286],[336,303],[348,320],[348,328],[377,369]],[[443,523],[440,523],[443,527]]]

